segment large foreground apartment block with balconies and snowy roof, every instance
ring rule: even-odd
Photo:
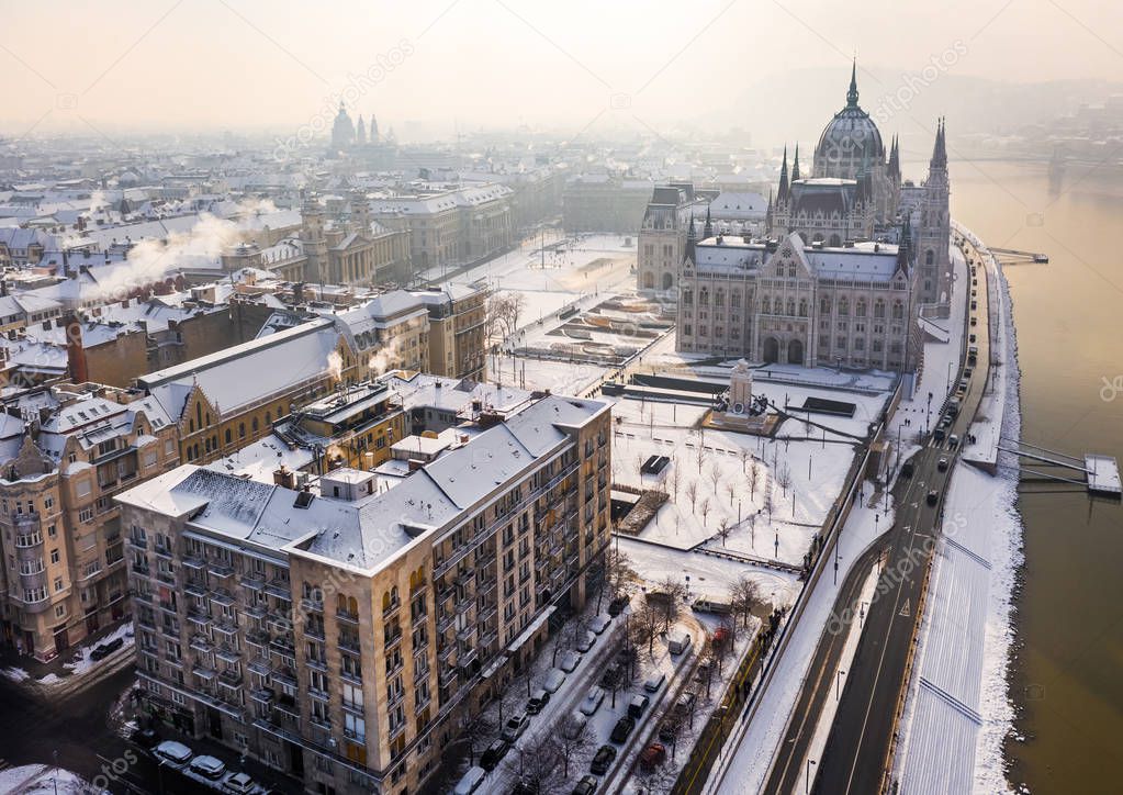
[[[417,792],[601,576],[610,419],[531,396],[300,491],[186,465],[120,495],[146,709],[309,792]]]

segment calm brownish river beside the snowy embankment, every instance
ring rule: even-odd
[[[952,163],[952,216],[1005,267],[1022,369],[1022,438],[1123,458],[1123,172]],[[1023,483],[1025,566],[1014,616],[1010,780],[1034,793],[1117,793],[1123,777],[1123,508]]]

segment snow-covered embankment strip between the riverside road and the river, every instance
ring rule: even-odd
[[[1016,336],[1001,269],[994,280],[1002,322],[995,387],[971,427],[979,437],[1017,438],[1021,427]],[[997,476],[955,469],[910,683],[896,777],[902,793],[1008,792],[1002,743],[1013,720],[1006,673],[1013,640],[1011,596],[1021,564],[1016,460],[999,455]]]

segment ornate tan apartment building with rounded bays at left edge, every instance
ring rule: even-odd
[[[136,392],[38,389],[0,414],[0,628],[42,661],[129,610],[122,488],[179,464],[175,429]]]

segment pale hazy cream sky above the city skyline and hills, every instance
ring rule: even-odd
[[[855,51],[859,68],[893,74],[934,58],[940,74],[1003,81],[1123,76],[1123,10],[1095,0],[4,6],[0,131],[9,136],[295,131],[321,124],[348,85],[353,115],[375,111],[399,131],[411,121],[451,128],[454,119],[578,130],[614,117],[660,128],[804,67],[837,66],[841,100]]]

